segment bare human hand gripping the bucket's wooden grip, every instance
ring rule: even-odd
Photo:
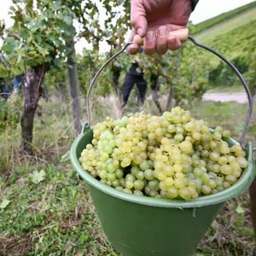
[[[144,52],[164,55],[168,49],[178,49],[181,41],[169,32],[187,26],[192,12],[191,0],[131,0],[131,36],[144,38]],[[128,52],[137,54],[138,44],[131,44]]]

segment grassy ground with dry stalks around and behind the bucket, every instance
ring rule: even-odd
[[[36,116],[32,157],[19,154],[20,127],[0,135],[0,255],[121,255],[102,232],[84,181],[68,158],[73,143],[70,105],[51,97],[40,102],[42,116]],[[93,124],[106,115],[118,116],[113,102],[95,102]],[[111,109],[111,108],[110,108]],[[146,101],[145,112],[157,114]],[[131,102],[127,111],[137,111]],[[190,108],[195,118],[212,126],[223,125],[239,139],[247,105],[235,102],[196,102]],[[255,146],[256,117],[247,139]],[[84,120],[85,111],[84,111]],[[44,173],[41,179],[37,172]],[[247,192],[225,203],[198,246],[198,256],[251,255],[254,247]]]

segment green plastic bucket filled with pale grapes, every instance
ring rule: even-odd
[[[91,177],[79,164],[79,156],[92,140],[85,128],[73,142],[71,161],[84,178],[102,229],[113,247],[129,256],[189,256],[205,235],[224,201],[241,194],[253,182],[253,148],[247,143],[248,166],[229,189],[191,201],[130,195]],[[239,144],[231,138],[231,145]]]

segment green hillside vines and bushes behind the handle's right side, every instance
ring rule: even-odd
[[[223,35],[209,38],[205,41],[205,44],[216,49],[230,60],[245,79],[247,79],[247,82],[252,89],[252,93],[255,93],[255,91],[253,92],[253,88],[255,87],[256,80],[256,50],[254,47],[256,44],[256,32],[251,29],[251,26],[256,26],[256,20],[251,21],[249,26],[248,24],[239,26]],[[204,58],[208,57],[209,61],[207,66],[209,69],[209,82],[211,85],[241,85],[241,82],[236,77],[236,73],[234,73],[223,61],[215,56],[210,56],[206,50],[202,50],[199,55],[204,56]]]

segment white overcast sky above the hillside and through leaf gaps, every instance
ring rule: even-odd
[[[252,3],[255,0],[200,0],[197,4],[194,12],[190,15],[190,19],[193,24],[200,23],[201,21],[211,19],[214,16],[221,15],[232,9],[236,9],[247,3]],[[8,11],[11,5],[11,0],[1,0],[0,20],[5,20],[7,26],[11,26],[11,20],[9,19]],[[127,38],[128,39],[128,38]],[[86,46],[84,40],[81,40],[76,49],[81,52],[83,47]],[[106,46],[102,44],[102,49]]]

